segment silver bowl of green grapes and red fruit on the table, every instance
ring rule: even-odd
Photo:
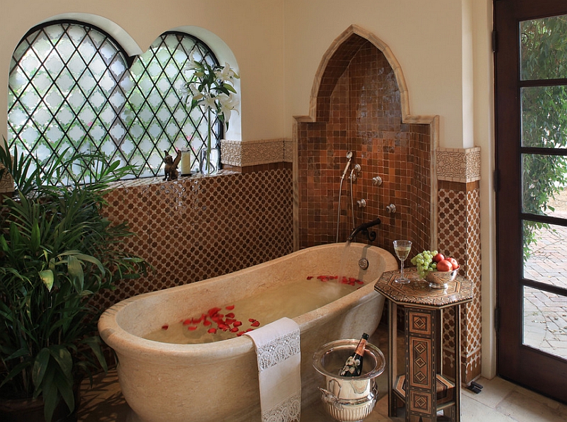
[[[459,262],[438,251],[422,251],[411,260],[420,278],[430,282],[430,287],[444,289],[459,273]]]

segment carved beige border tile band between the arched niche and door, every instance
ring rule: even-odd
[[[439,148],[436,152],[437,178],[468,183],[481,179],[481,148]]]

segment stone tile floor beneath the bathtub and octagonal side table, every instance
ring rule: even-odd
[[[370,341],[386,355],[388,351],[387,327],[381,324]],[[403,336],[398,336],[400,346],[403,346]],[[403,354],[398,353],[401,359]],[[387,359],[387,356],[386,356]],[[541,395],[519,387],[515,384],[494,378],[481,378],[478,383],[483,385],[482,392],[475,394],[463,390],[461,401],[462,422],[561,422],[567,421],[567,405],[542,397]],[[378,402],[372,414],[365,422],[403,422],[402,417],[388,418],[387,377],[386,371],[378,377]],[[79,422],[127,422],[128,404],[125,403],[116,370],[108,375],[96,377],[95,384],[89,388],[84,384],[82,403],[79,409]],[[301,414],[302,422],[331,422],[320,401],[304,409]],[[167,421],[163,421],[167,422]],[[188,419],[188,422],[191,422]],[[219,421],[224,422],[224,421]]]

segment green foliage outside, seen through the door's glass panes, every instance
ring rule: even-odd
[[[522,80],[567,77],[567,16],[524,21],[520,24],[520,77]],[[551,85],[551,84],[550,84]],[[522,147],[567,147],[567,87],[530,86],[521,90]],[[567,184],[564,156],[523,154],[523,212],[546,215],[554,212],[549,201]],[[524,261],[531,255],[540,229],[549,224],[525,221]]]

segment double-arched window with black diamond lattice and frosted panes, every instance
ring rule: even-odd
[[[164,151],[185,148],[198,169],[208,121],[201,108],[189,115],[182,101],[191,52],[196,61],[218,65],[207,45],[185,33],[164,33],[147,52],[128,57],[91,25],[57,21],[33,28],[11,62],[9,146],[38,163],[64,151],[102,152],[136,165],[129,178],[157,176]],[[215,122],[217,150],[222,137],[223,125]],[[82,176],[81,169],[68,170],[66,177]]]

